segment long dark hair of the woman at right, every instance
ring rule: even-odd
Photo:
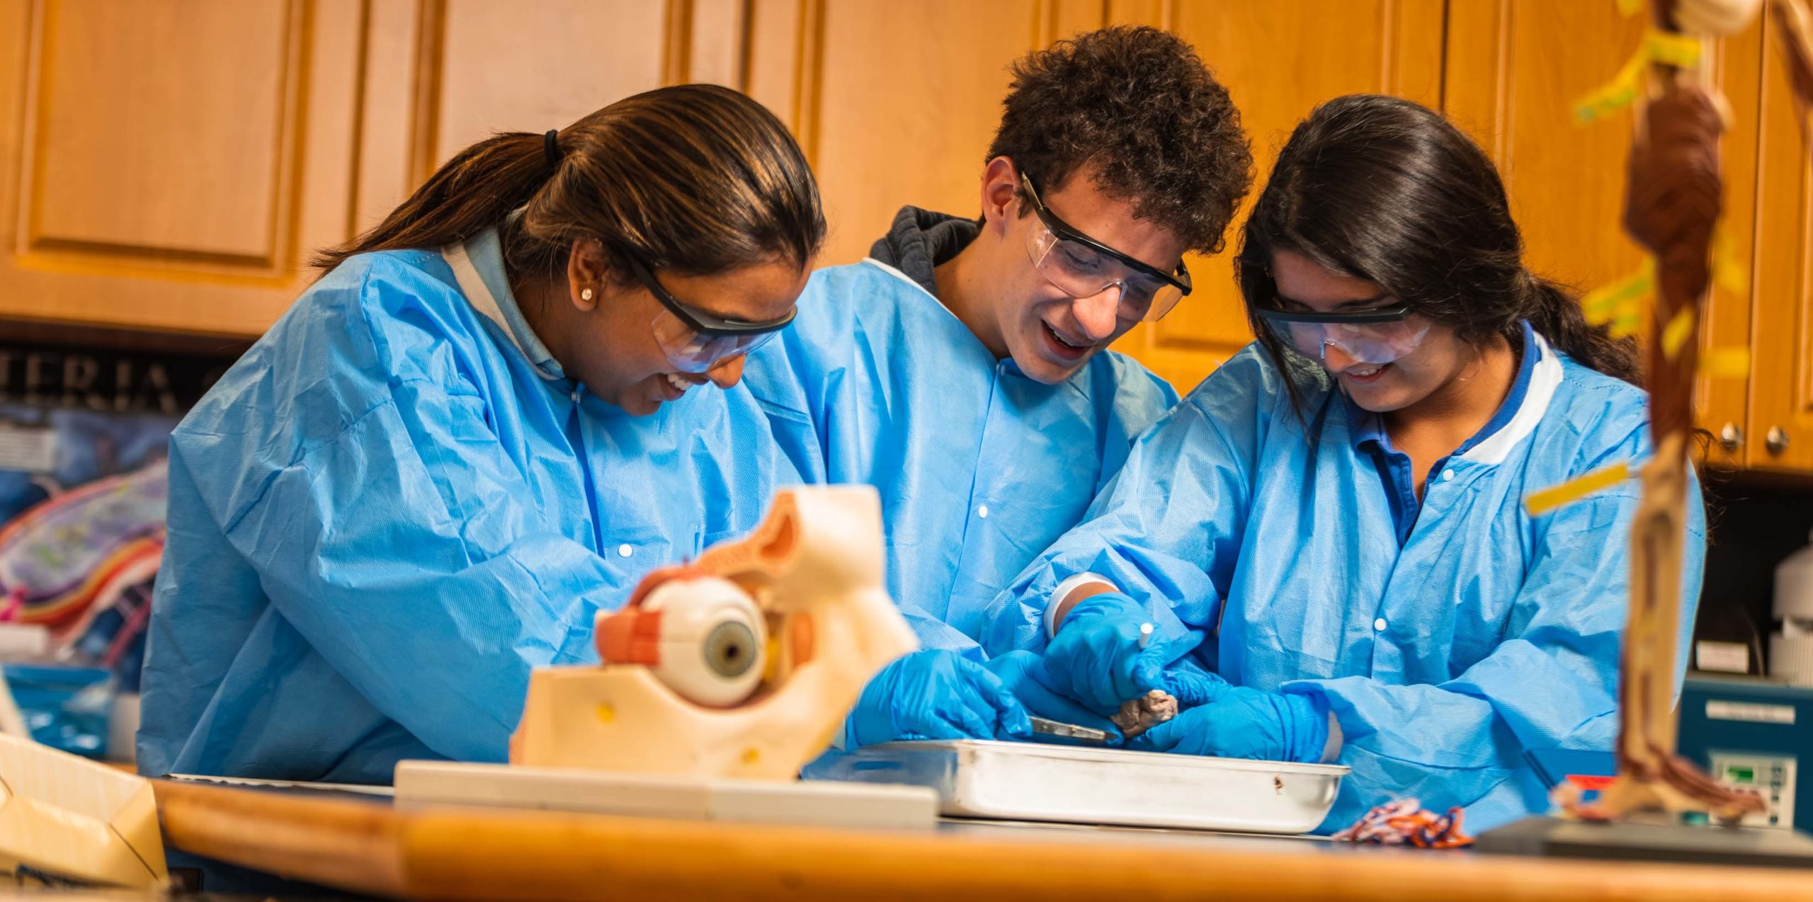
[[[1284,346],[1253,313],[1278,306],[1278,250],[1378,283],[1465,342],[1503,335],[1517,346],[1528,321],[1583,366],[1637,380],[1635,342],[1588,326],[1566,288],[1523,266],[1523,235],[1492,159],[1418,103],[1351,94],[1316,107],[1253,205],[1235,277],[1253,333],[1289,373]],[[1300,398],[1296,380],[1285,382]]]

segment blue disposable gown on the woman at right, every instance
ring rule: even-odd
[[[997,600],[988,650],[1042,648],[1050,590],[1099,572],[1162,632],[1218,629],[1195,661],[1231,683],[1327,701],[1352,775],[1323,830],[1401,797],[1465,806],[1469,830],[1545,811],[1525,752],[1610,752],[1617,734],[1639,485],[1543,516],[1523,496],[1650,444],[1643,391],[1552,350],[1528,369],[1507,409],[1430,473],[1400,533],[1358,435],[1367,417],[1318,379],[1305,426],[1249,346]],[[1682,672],[1704,565],[1697,484],[1690,498]]]

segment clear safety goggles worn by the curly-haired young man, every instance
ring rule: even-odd
[[[1182,263],[1175,273],[1148,266],[1095,241],[1044,206],[1032,179],[1021,172],[1021,187],[1032,197],[1039,223],[1026,232],[1026,255],[1052,284],[1070,297],[1095,297],[1120,288],[1120,319],[1157,321],[1189,293],[1189,270]]]

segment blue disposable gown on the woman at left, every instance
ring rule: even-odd
[[[635,418],[562,379],[495,230],[346,261],[170,438],[140,770],[504,761],[529,668],[596,661],[600,609],[760,520],[760,417],[705,386]]]

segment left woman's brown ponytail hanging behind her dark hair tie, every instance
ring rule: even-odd
[[[529,203],[553,172],[542,136],[495,134],[453,154],[370,232],[315,254],[312,263],[332,270],[354,254],[466,241]]]

